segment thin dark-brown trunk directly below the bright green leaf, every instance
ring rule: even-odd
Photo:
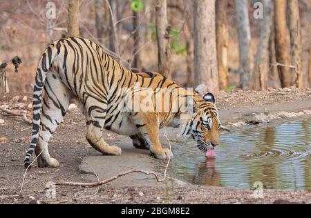
[[[133,66],[137,69],[137,72],[142,72],[142,59],[140,58],[140,48],[142,47],[142,31],[140,31],[140,12],[133,10]]]

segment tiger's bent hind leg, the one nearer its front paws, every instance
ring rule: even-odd
[[[121,148],[117,146],[109,146],[102,137],[106,118],[106,103],[99,103],[93,98],[87,104],[86,114],[86,139],[88,143],[103,155],[121,155]]]

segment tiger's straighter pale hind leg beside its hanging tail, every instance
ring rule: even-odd
[[[39,168],[59,166],[58,161],[50,157],[48,141],[62,122],[72,97],[68,88],[55,75],[49,72],[44,85],[45,94],[40,115],[39,138],[35,148]]]

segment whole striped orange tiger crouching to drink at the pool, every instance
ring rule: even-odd
[[[177,90],[178,98],[185,99],[184,106],[193,112],[189,115],[181,110],[181,103],[172,110],[176,101],[172,96],[155,103],[168,106],[167,111],[121,110],[133,103],[127,99],[133,93],[120,90],[135,90],[137,83],[140,89],[154,93],[161,88]],[[160,128],[165,126],[179,128],[180,135],[194,139],[203,152],[219,145],[221,123],[213,94],[202,97],[189,92],[158,72],[132,72],[93,41],[67,37],[47,46],[39,60],[33,90],[32,139],[24,159],[26,168],[31,167],[33,151],[39,168],[59,166],[57,159],[50,157],[48,141],[73,99],[86,119],[86,140],[102,155],[122,153],[120,147],[104,141],[104,129],[131,137],[135,148],[149,149],[153,157],[162,160],[173,157],[171,150],[162,148],[160,143]]]

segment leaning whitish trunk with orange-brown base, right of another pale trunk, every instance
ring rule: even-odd
[[[261,19],[260,37],[255,56],[254,89],[267,88],[267,74],[269,72],[269,39],[272,29],[272,0],[263,0],[264,19]]]

